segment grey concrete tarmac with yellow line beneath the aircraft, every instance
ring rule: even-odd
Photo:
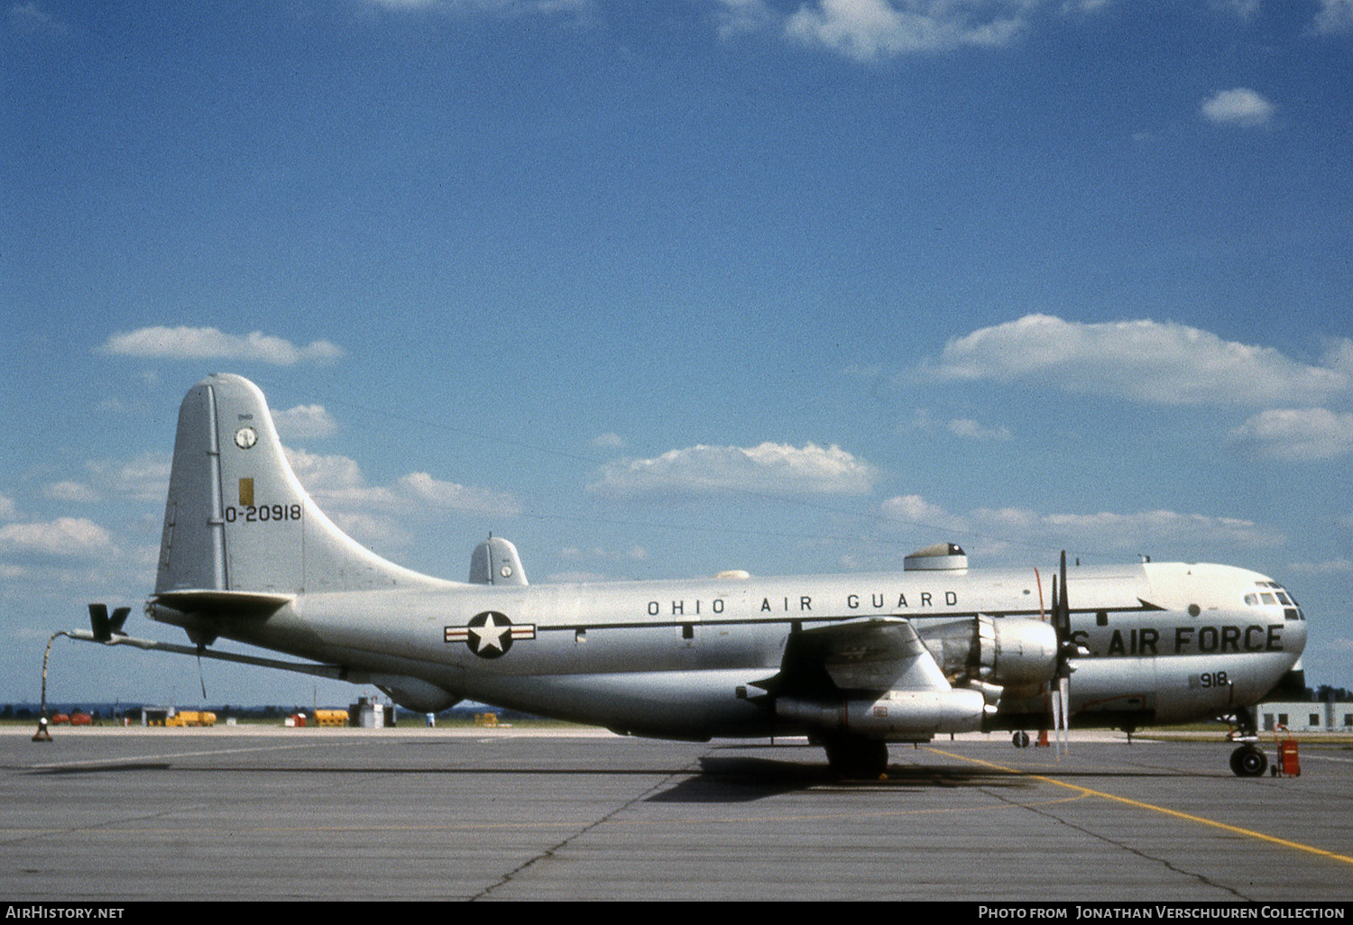
[[[969,736],[843,782],[801,744],[587,730],[30,734],[0,733],[9,902],[1353,899],[1353,752],[1312,742],[1239,779],[1220,741]]]

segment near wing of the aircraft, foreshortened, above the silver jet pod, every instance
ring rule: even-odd
[[[779,673],[758,687],[774,696],[825,696],[950,684],[911,621],[869,617],[792,633]]]

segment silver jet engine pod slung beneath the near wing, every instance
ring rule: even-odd
[[[852,732],[896,741],[982,728],[986,701],[980,691],[886,691],[875,699],[802,701],[779,698],[775,713],[825,732]]]

